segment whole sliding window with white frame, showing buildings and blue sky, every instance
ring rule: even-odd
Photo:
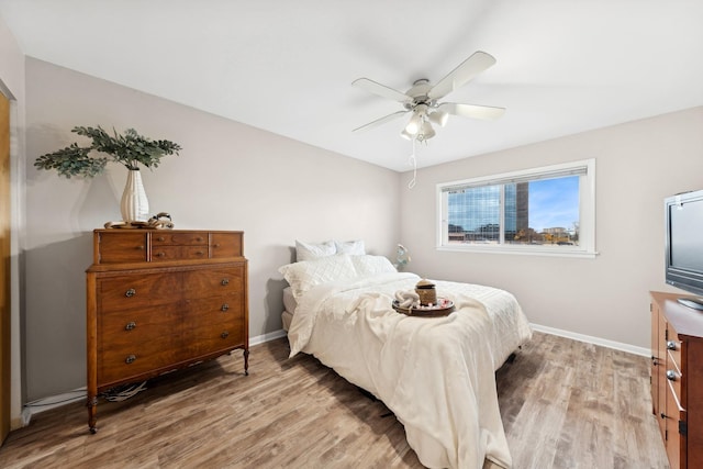
[[[595,254],[595,160],[437,185],[438,248]]]

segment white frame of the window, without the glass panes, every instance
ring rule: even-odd
[[[516,244],[449,244],[447,202],[443,193],[446,188],[454,186],[498,186],[511,180],[538,179],[540,176],[555,174],[568,174],[569,171],[585,170],[579,179],[579,245],[578,246],[551,246],[551,245],[516,245]],[[501,189],[500,220],[501,232],[504,231],[505,213],[503,194]],[[491,253],[491,254],[521,254],[537,256],[559,257],[587,257],[594,258],[595,250],[595,158],[562,163],[558,165],[542,166],[538,168],[523,169],[518,171],[499,175],[481,176],[470,179],[461,179],[449,182],[440,182],[436,186],[436,249],[460,253]],[[502,238],[502,236],[501,236]],[[445,244],[446,243],[446,244]]]

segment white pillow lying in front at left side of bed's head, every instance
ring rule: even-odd
[[[315,260],[289,264],[278,269],[299,300],[311,288],[357,277],[349,256],[327,256]]]

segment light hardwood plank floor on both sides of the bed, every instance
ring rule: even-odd
[[[403,427],[287,339],[148,383],[98,405],[35,415],[0,449],[2,468],[422,468]],[[648,360],[535,333],[496,373],[514,468],[666,468]]]

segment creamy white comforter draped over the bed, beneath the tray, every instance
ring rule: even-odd
[[[531,337],[527,320],[511,293],[446,281],[435,281],[437,295],[454,301],[454,313],[395,312],[394,292],[417,280],[384,273],[314,287],[299,299],[290,356],[312,354],[383,401],[423,465],[507,468],[494,371]]]

